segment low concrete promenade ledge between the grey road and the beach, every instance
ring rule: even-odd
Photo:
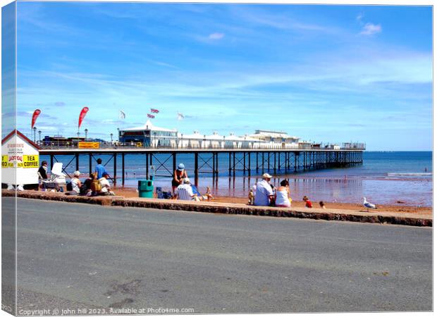
[[[15,192],[2,190],[2,195],[7,197]],[[414,225],[431,227],[432,218],[414,213],[393,213],[371,211],[350,211],[345,209],[305,209],[299,207],[278,208],[258,207],[245,204],[227,204],[212,201],[178,201],[169,199],[144,199],[123,197],[79,197],[68,196],[63,193],[24,191],[18,192],[18,197],[30,199],[43,199],[51,201],[80,202],[85,204],[99,204],[104,206],[125,206],[152,209],[167,209],[179,211],[195,211],[204,213],[226,213],[252,216],[273,216],[282,218],[308,218],[318,220],[343,220],[359,223],[383,223],[395,225]]]

